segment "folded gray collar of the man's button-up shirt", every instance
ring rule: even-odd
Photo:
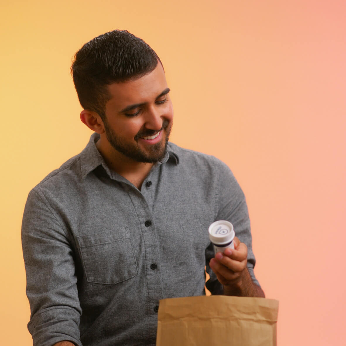
[[[103,157],[97,150],[96,142],[99,139],[100,135],[97,133],[93,133],[90,137],[89,143],[81,152],[81,172],[83,179],[86,177],[86,175],[88,175],[91,171],[93,171],[100,165],[102,165],[102,167],[110,177],[113,175],[106,162],[103,160]],[[179,156],[177,155],[176,151],[173,150],[170,143],[168,143],[165,156],[160,163],[166,162],[173,162],[176,165],[179,164]]]

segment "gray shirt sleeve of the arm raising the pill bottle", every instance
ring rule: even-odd
[[[240,242],[247,246],[247,269],[250,276],[253,282],[260,286],[254,274],[256,259],[252,251],[250,219],[245,195],[226,164],[217,160],[216,167],[216,191],[218,192],[215,202],[215,221],[227,220],[233,224],[235,235]],[[207,282],[206,287],[212,294],[222,294],[222,285],[217,281],[215,273],[209,267],[209,261],[212,257],[214,257],[214,252],[210,244],[206,249],[207,273],[210,275],[210,282]]]

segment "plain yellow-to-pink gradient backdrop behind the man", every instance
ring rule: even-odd
[[[345,345],[345,1],[3,1],[1,344],[32,345],[27,194],[86,145],[73,54],[128,29],[160,56],[172,142],[226,162],[252,221],[279,346]],[[207,230],[206,230],[207,231]]]

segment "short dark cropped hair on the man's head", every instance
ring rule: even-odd
[[[75,54],[71,66],[74,86],[84,109],[105,118],[108,84],[137,79],[153,71],[161,60],[149,45],[127,30],[113,30],[93,38]]]

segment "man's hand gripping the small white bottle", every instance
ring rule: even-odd
[[[227,248],[224,253],[218,252],[209,263],[210,268],[226,290],[241,287],[243,275],[247,273],[247,246],[240,243],[237,237],[234,237],[233,243],[234,249]]]

